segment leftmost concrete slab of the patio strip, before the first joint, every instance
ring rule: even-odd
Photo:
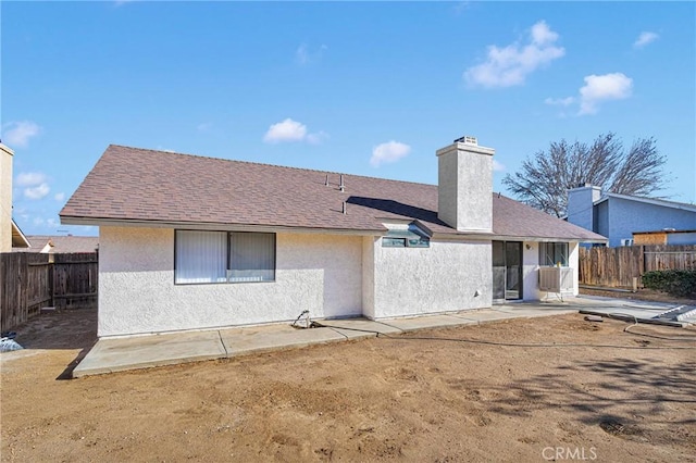
[[[217,331],[100,339],[73,370],[73,377],[198,362],[226,354]]]

